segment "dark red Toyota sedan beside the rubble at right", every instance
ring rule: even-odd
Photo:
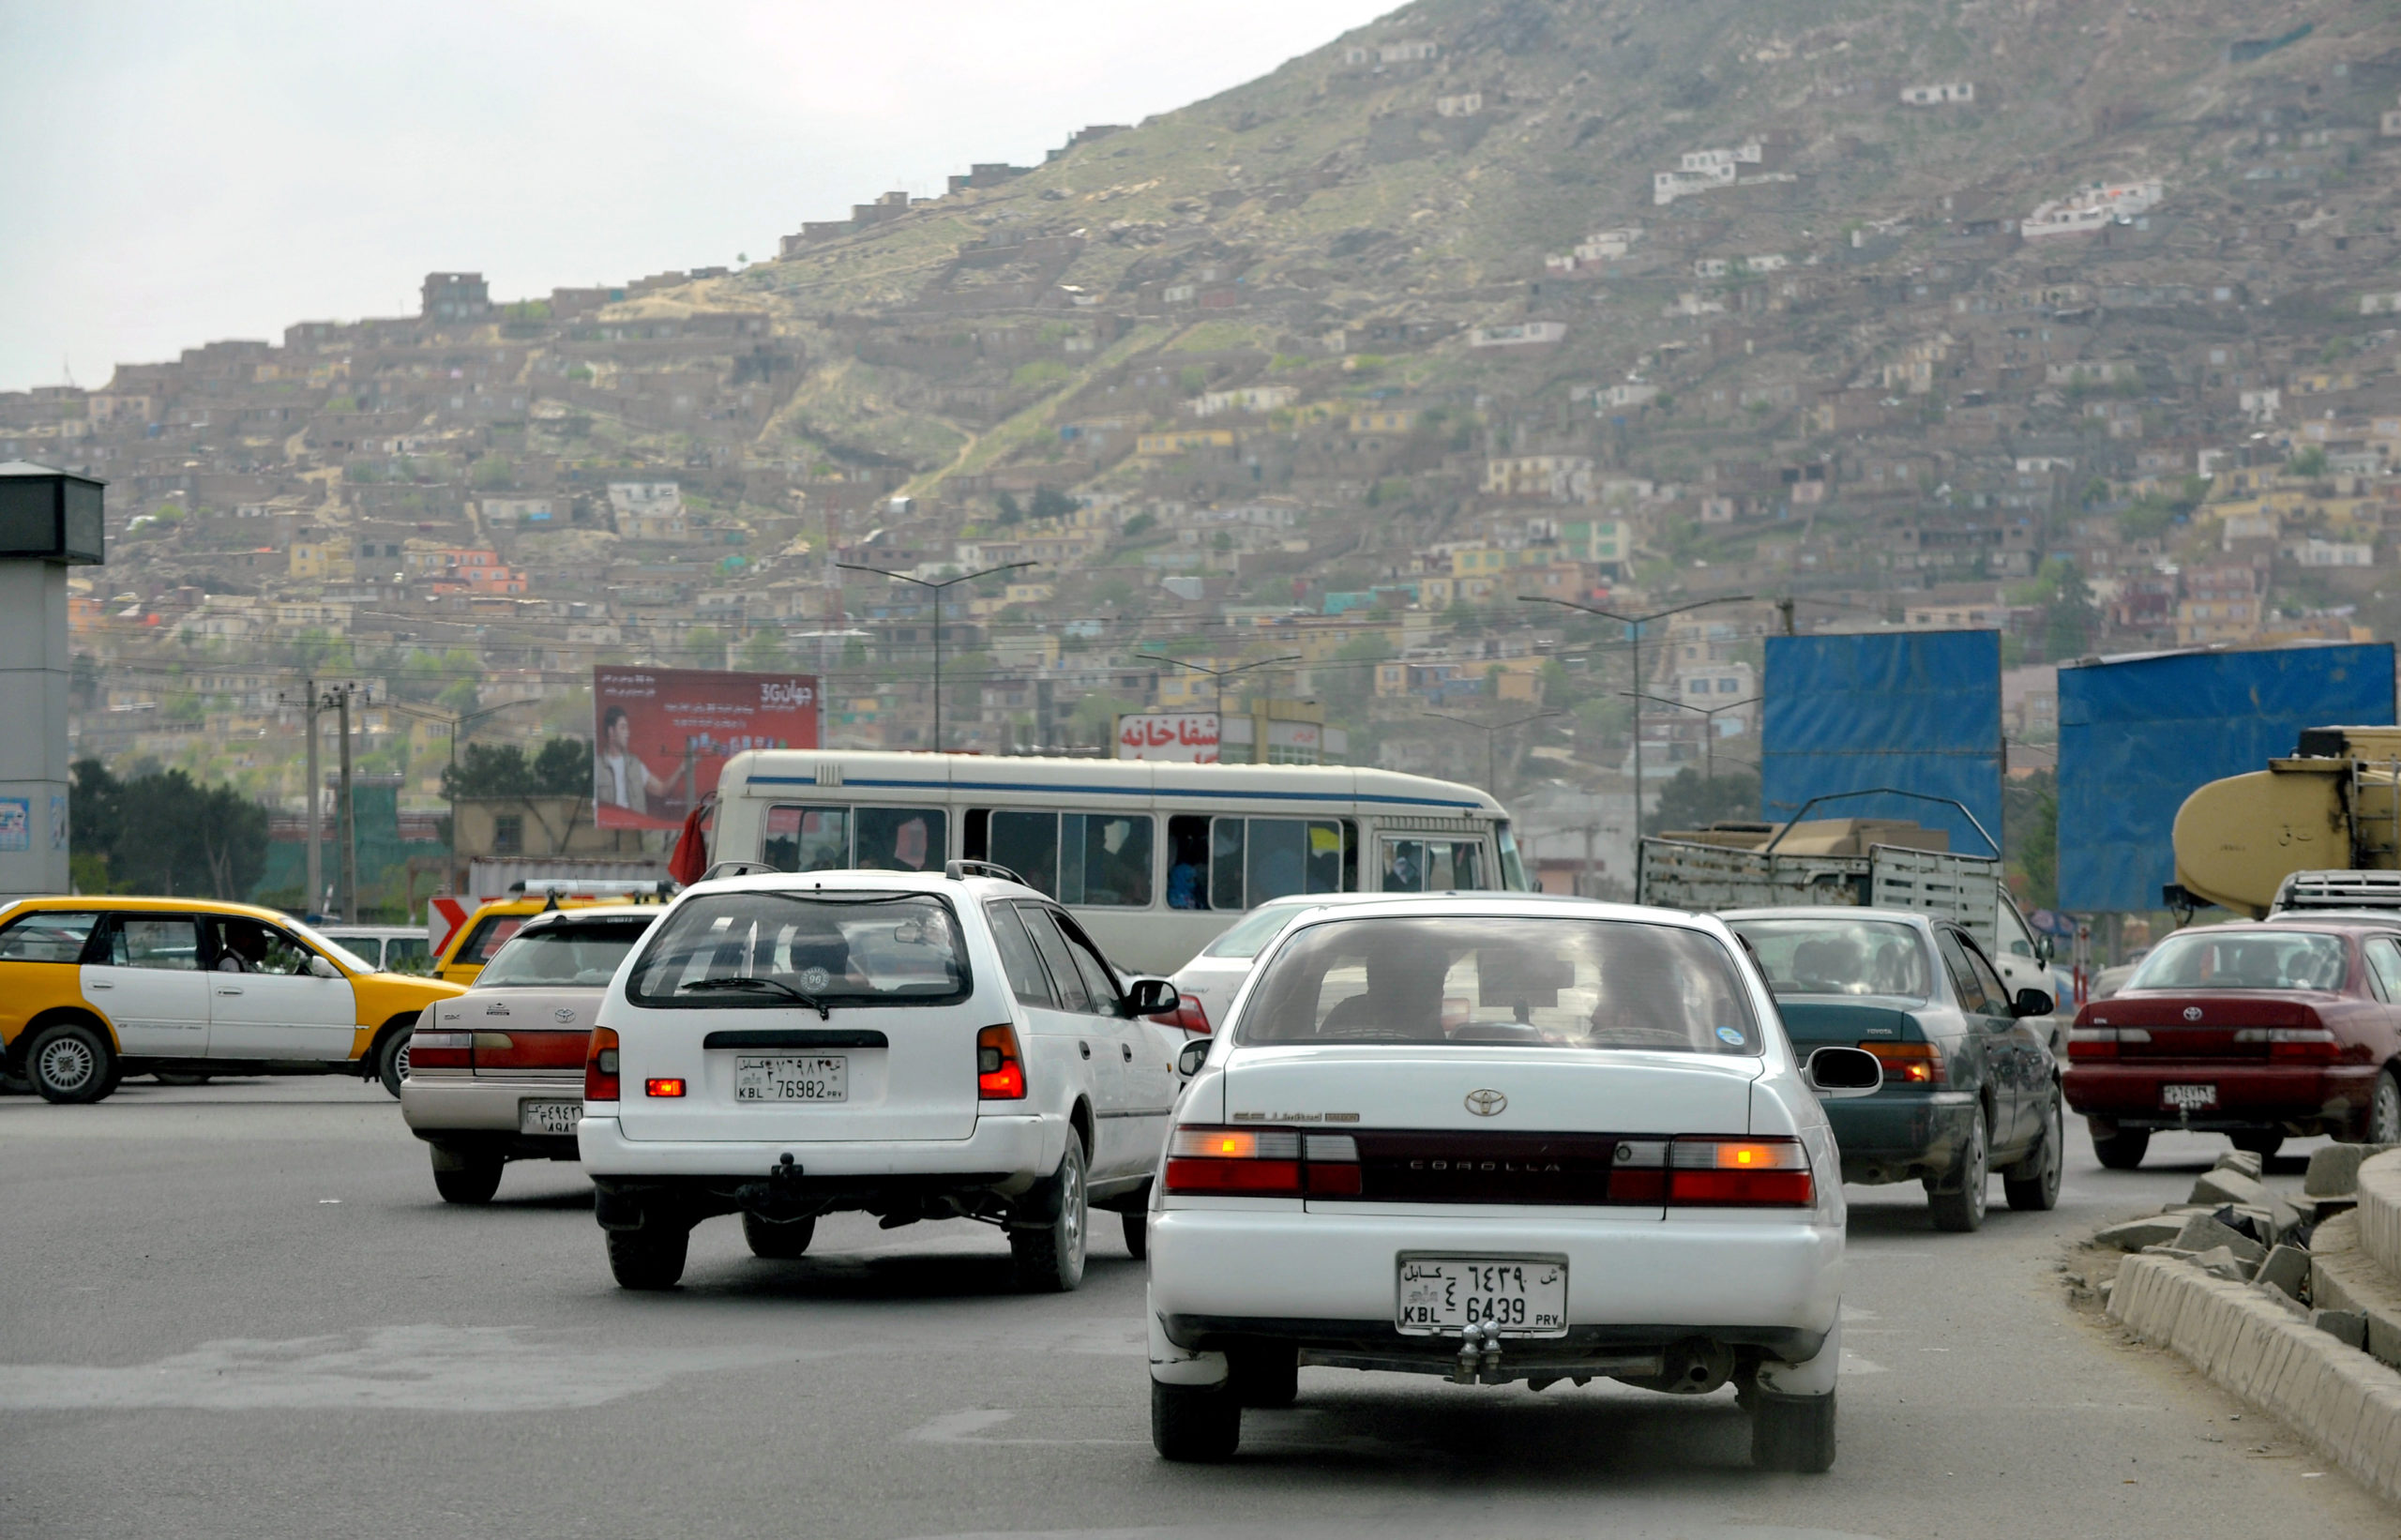
[[[2401,915],[2183,930],[2077,1011],[2067,1105],[2101,1165],[2154,1129],[2274,1153],[2286,1136],[2401,1141]]]

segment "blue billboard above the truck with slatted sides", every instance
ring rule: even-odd
[[[1760,817],[1892,786],[1950,798],[2000,838],[2000,632],[1770,637],[1760,694]],[[1962,855],[1990,855],[1957,810],[1844,798],[1813,819],[1911,819]]]

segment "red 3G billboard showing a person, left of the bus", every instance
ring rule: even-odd
[[[816,675],[593,668],[593,822],[682,829],[742,750],[814,750]]]

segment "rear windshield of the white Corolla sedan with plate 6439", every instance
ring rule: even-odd
[[[1760,1052],[1714,937],[1633,920],[1325,920],[1268,959],[1239,1043],[1474,1043]]]

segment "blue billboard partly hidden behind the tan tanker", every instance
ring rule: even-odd
[[[2267,769],[2303,728],[2391,721],[2389,641],[2060,668],[2060,908],[2158,908],[2185,798]]]

